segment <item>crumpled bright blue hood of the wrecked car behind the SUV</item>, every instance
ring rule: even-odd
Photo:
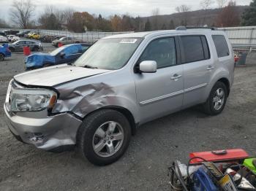
[[[45,53],[34,53],[26,57],[26,68],[42,67],[44,63],[55,63],[55,57]]]

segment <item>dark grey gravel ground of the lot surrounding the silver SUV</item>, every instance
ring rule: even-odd
[[[53,50],[44,44],[45,52]],[[1,62],[0,104],[7,85],[24,70],[24,56]],[[197,108],[148,122],[132,137],[124,157],[105,167],[91,165],[76,152],[50,153],[16,141],[0,108],[0,190],[169,190],[167,168],[187,162],[189,152],[243,148],[256,155],[256,64],[236,67],[224,112],[208,117]]]

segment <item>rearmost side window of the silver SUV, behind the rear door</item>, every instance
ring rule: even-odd
[[[214,40],[214,44],[217,50],[218,57],[225,57],[227,55],[230,55],[230,50],[227,46],[227,41],[225,39],[225,36],[223,35],[213,35],[212,39]]]

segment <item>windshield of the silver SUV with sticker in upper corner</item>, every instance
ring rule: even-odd
[[[101,39],[75,61],[75,66],[121,69],[137,49],[141,38]]]

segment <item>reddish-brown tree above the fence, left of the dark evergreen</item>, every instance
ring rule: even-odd
[[[220,27],[239,26],[240,17],[237,12],[236,1],[229,1],[227,7],[224,7],[217,17],[217,25]]]

